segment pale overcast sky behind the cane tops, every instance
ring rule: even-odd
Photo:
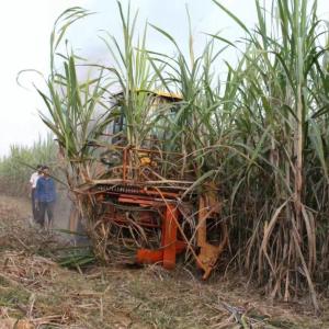
[[[263,0],[270,3],[270,0]],[[122,0],[126,5],[128,0]],[[222,31],[230,39],[243,36],[235,23],[223,13],[212,0],[131,0],[133,9],[138,9],[137,32],[147,20],[170,34],[184,49],[188,47],[186,4],[192,20],[194,46],[201,48],[205,33]],[[222,0],[247,26],[256,22],[253,0]],[[266,4],[266,5],[268,5]],[[44,110],[34,84],[43,88],[43,79],[37,73],[22,70],[34,69],[47,77],[49,73],[49,36],[56,18],[70,7],[82,7],[95,14],[77,23],[68,33],[76,52],[92,61],[110,58],[99,37],[105,30],[120,35],[120,18],[116,0],[11,0],[0,5],[0,157],[9,152],[10,145],[32,145],[45,138],[47,128],[38,117]],[[329,2],[319,0],[320,16],[329,21]],[[163,37],[150,29],[148,48],[156,52],[173,52]]]

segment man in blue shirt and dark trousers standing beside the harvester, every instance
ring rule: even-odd
[[[49,167],[44,166],[42,175],[38,178],[35,188],[35,202],[38,209],[38,224],[45,227],[45,217],[47,213],[48,227],[52,227],[54,219],[54,206],[56,201],[55,182],[49,175]]]

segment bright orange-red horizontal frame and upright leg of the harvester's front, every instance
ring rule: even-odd
[[[136,252],[137,263],[158,263],[164,269],[175,266],[177,254],[181,253],[186,243],[180,239],[179,223],[181,213],[177,205],[178,193],[140,189],[133,185],[110,185],[95,195],[98,203],[105,205],[103,220],[117,225],[129,226],[125,213],[117,206],[138,206],[143,211],[134,225],[155,228],[161,231],[160,246],[157,249],[139,248]],[[155,219],[155,211],[160,215],[159,222]]]

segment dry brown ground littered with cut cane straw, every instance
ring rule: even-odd
[[[29,218],[29,201],[0,195],[0,329],[329,328],[307,300],[271,302],[242,277],[202,283],[180,265],[68,270],[52,256],[71,242]]]

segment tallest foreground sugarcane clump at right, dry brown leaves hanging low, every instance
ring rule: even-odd
[[[243,147],[261,170],[248,166],[239,189],[252,194],[256,202],[260,198],[263,207],[256,208],[257,230],[248,240],[246,265],[251,270],[257,266],[260,282],[270,279],[271,294],[283,294],[285,299],[300,290],[305,279],[318,308],[313,284],[317,263],[316,208],[310,203],[314,192],[308,174],[315,158],[325,177],[328,170],[319,129],[327,109],[318,103],[318,95],[326,89],[324,81],[316,78],[324,77],[320,61],[327,53],[322,43],[326,26],[317,18],[316,1],[273,1],[270,13],[256,1],[258,24],[253,31],[215,2],[247,35],[237,129],[246,124],[250,127],[250,136],[240,131]],[[257,190],[269,198],[254,193]],[[258,260],[251,259],[253,248]]]

